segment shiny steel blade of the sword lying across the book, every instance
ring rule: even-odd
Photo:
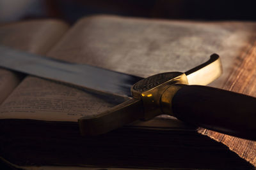
[[[0,46],[0,66],[13,71],[118,96],[131,96],[131,86],[142,79],[131,74],[110,71],[86,64],[64,62],[6,46]]]

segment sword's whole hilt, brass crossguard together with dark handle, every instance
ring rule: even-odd
[[[256,140],[256,98],[204,86],[221,75],[218,55],[186,73],[150,76],[131,87],[133,98],[93,118],[82,117],[83,135],[102,134],[134,120],[167,114],[189,124]]]

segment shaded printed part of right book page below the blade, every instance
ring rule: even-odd
[[[101,113],[116,104],[104,96],[27,76],[1,105],[0,118],[77,122],[79,117]]]

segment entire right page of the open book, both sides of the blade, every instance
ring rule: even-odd
[[[88,17],[79,20],[47,55],[145,77],[187,71],[218,53],[224,74],[215,86],[221,87],[234,59],[251,43],[255,28],[256,24],[250,22]],[[118,103],[28,77],[1,104],[0,117],[76,122],[84,115],[97,115]]]

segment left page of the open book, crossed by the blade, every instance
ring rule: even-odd
[[[31,20],[0,26],[0,45],[45,55],[67,31],[68,25],[58,20]],[[1,57],[1,56],[0,56]],[[22,76],[0,69],[0,103],[19,84]]]

